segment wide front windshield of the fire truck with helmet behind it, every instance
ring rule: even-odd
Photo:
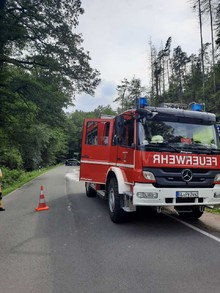
[[[138,122],[138,145],[144,147],[219,149],[214,125],[141,119]]]

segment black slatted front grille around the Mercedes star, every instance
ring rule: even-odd
[[[184,168],[185,169],[185,168]],[[157,188],[176,188],[176,187],[199,187],[212,188],[215,175],[220,173],[220,170],[210,169],[190,169],[192,171],[192,180],[185,182],[182,178],[181,168],[143,168],[143,171],[152,172],[156,178],[156,183],[153,185]]]

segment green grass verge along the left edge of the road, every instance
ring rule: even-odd
[[[3,197],[8,193],[20,188],[25,183],[37,178],[48,170],[55,168],[56,166],[41,168],[39,170],[25,172],[23,170],[9,170],[2,168],[2,195]]]

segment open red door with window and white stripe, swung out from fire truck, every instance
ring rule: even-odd
[[[113,119],[85,119],[80,161],[80,180],[105,183],[111,164]]]

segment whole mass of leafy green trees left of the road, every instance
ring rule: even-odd
[[[99,73],[74,33],[80,0],[0,1],[0,164],[33,170],[68,153],[64,108]]]

